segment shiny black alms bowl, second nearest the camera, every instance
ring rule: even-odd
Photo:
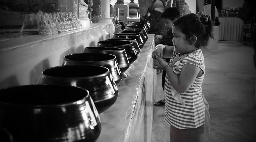
[[[51,67],[42,72],[38,84],[70,85],[90,92],[101,114],[118,97],[118,88],[108,68],[94,65],[66,65]]]

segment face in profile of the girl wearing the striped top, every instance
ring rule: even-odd
[[[176,28],[175,26],[172,26],[172,33],[173,33],[173,45],[174,51],[180,54],[186,54],[194,50],[192,48],[193,45],[190,45],[186,40],[185,40],[185,34],[183,34],[179,28]]]

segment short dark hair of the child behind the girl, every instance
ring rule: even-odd
[[[162,13],[161,18],[167,18],[174,21],[180,18],[180,10],[177,7],[169,7]]]

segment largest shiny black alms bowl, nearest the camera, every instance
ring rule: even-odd
[[[23,85],[0,94],[0,127],[9,134],[8,141],[94,142],[100,135],[100,117],[86,89]]]

